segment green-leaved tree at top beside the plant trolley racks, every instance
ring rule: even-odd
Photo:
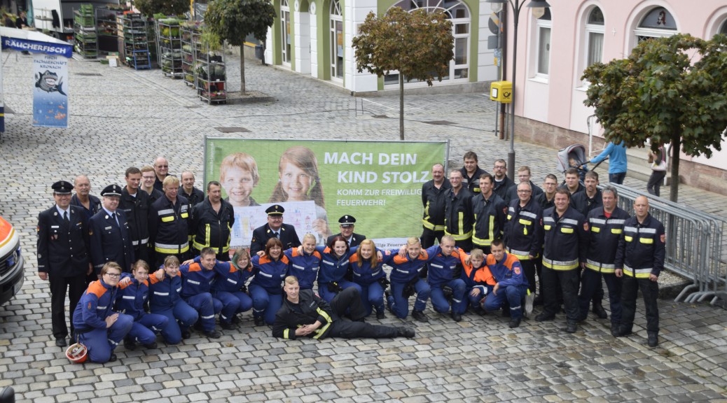
[[[204,13],[204,23],[212,33],[232,46],[240,46],[240,92],[245,93],[245,38],[252,35],[265,41],[275,20],[275,7],[269,0],[212,0]]]

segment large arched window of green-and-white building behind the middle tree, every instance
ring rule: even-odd
[[[441,11],[452,23],[454,36],[454,61],[449,63],[449,74],[442,80],[456,80],[470,76],[470,9],[459,0],[401,0],[392,7],[401,7],[408,12],[425,9],[427,12]],[[384,76],[384,84],[398,84],[398,72]],[[417,82],[412,79],[411,83]]]

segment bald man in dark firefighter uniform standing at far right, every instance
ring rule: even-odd
[[[659,274],[664,268],[666,235],[664,225],[648,213],[648,199],[634,201],[635,216],[626,220],[616,252],[616,277],[622,277],[622,317],[619,336],[632,333],[638,290],[646,306],[648,345],[659,344]]]

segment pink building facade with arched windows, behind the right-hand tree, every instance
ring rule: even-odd
[[[589,131],[593,109],[583,105],[588,84],[581,76],[590,63],[627,57],[644,38],[674,33],[711,38],[727,33],[725,0],[549,3],[550,9],[539,18],[532,15],[532,9],[523,7],[521,11],[515,83],[515,115],[521,118],[515,132],[518,139],[553,147],[587,144],[589,132],[595,135],[595,143],[603,143],[602,129],[593,118]],[[508,40],[507,49],[513,49],[513,37],[508,36]],[[681,180],[727,194],[725,146],[723,143],[722,150],[713,152],[709,159],[682,155]]]

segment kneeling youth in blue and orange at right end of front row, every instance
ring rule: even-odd
[[[528,279],[523,275],[523,266],[514,255],[505,252],[502,240],[492,241],[486,265],[495,281],[491,293],[485,298],[482,308],[497,311],[510,306],[510,327],[520,326],[523,318],[523,301],[528,294]]]

